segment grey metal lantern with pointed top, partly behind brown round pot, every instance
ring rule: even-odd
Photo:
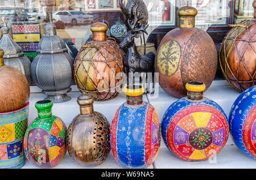
[[[9,36],[10,28],[7,27],[6,23],[1,28],[2,38],[0,40],[0,48],[3,49],[5,54],[3,60],[5,65],[12,66],[21,71],[27,78],[28,83],[32,82],[30,77],[30,60],[24,56],[22,49],[14,40]]]

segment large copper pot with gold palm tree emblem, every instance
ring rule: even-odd
[[[184,6],[177,11],[179,28],[163,37],[156,52],[155,71],[165,92],[175,97],[187,95],[185,84],[203,82],[206,89],[217,70],[217,51],[207,32],[195,28],[196,8]]]

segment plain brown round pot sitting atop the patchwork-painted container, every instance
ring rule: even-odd
[[[0,113],[23,108],[30,97],[30,85],[26,77],[14,67],[3,62],[0,49]]]

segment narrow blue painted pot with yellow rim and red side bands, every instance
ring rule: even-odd
[[[112,121],[112,152],[123,168],[146,168],[158,155],[160,120],[155,108],[142,100],[143,92],[141,86],[127,86],[127,101],[118,108]]]

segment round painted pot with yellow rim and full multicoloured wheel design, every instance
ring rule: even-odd
[[[163,140],[182,160],[207,160],[228,140],[228,118],[216,102],[203,97],[204,83],[189,82],[186,89],[188,96],[174,102],[164,114]]]

